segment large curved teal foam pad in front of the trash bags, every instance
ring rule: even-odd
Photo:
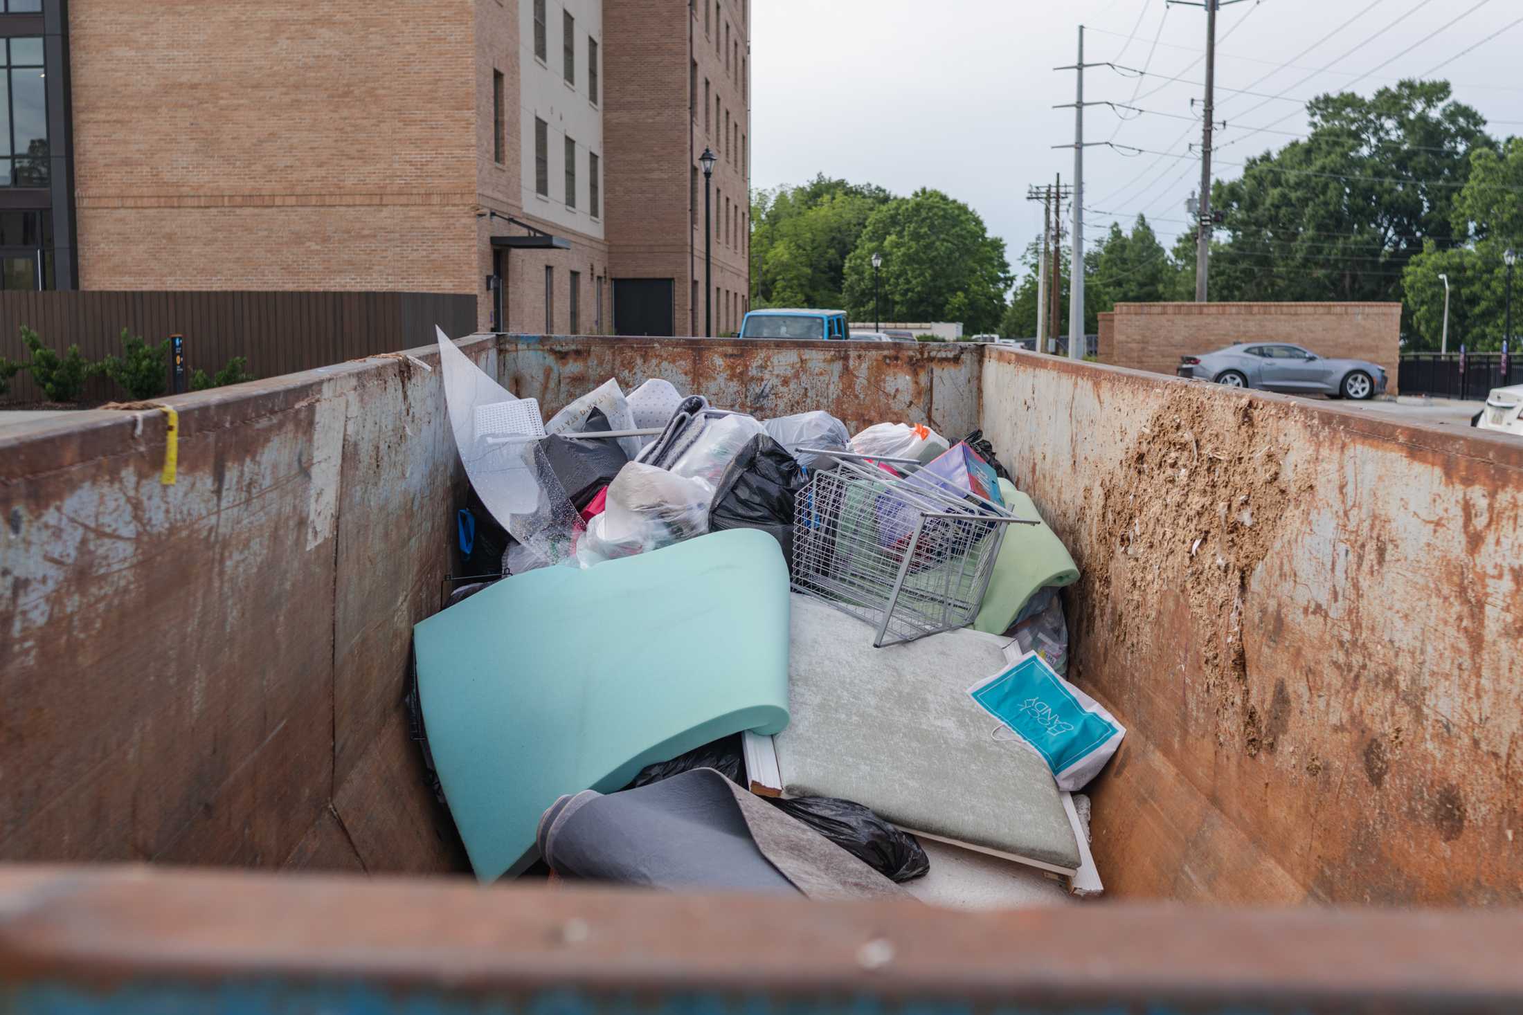
[[[428,746],[481,881],[562,794],[787,726],[787,566],[758,530],[513,575],[413,628]]]

